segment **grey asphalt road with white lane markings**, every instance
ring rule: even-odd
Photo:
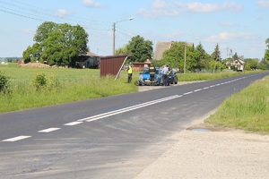
[[[267,73],[0,114],[0,178],[134,178],[186,129]]]

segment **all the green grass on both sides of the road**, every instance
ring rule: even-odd
[[[178,81],[206,81],[253,72],[178,73]],[[99,69],[33,68],[0,65],[9,91],[0,92],[0,113],[138,91],[139,72],[127,83],[126,71],[100,77]],[[205,123],[269,133],[269,78],[227,98]]]

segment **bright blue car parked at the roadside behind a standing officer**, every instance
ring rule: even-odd
[[[153,85],[162,85],[162,83],[163,82],[161,78],[161,69],[156,68]],[[138,84],[139,86],[151,85],[150,71],[148,68],[144,69],[143,72],[140,72],[140,75],[138,77]]]

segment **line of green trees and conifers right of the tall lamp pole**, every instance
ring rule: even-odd
[[[265,51],[265,58],[259,61],[257,58],[246,58],[245,70],[268,70],[269,69],[269,38],[265,41],[268,49]],[[171,68],[177,68],[179,70],[184,68],[185,64],[185,46],[186,42],[178,41],[174,42],[172,46],[166,50],[161,60],[152,60],[153,64],[162,66],[163,64],[169,64]],[[152,41],[145,40],[143,37],[135,36],[132,38],[125,47],[118,48],[116,54],[132,54],[130,58],[132,62],[144,62],[146,59],[152,58]],[[231,64],[234,60],[239,60],[240,56],[235,53],[229,58],[222,59],[219,44],[214,48],[213,54],[208,54],[204,50],[201,42],[196,47],[188,47],[186,53],[186,68],[187,71],[221,71],[228,68],[228,64]],[[233,66],[231,66],[231,69]]]

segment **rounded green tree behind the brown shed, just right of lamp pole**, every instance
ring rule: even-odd
[[[145,40],[141,36],[133,37],[126,47],[120,48],[116,51],[116,54],[131,54],[130,62],[144,62],[146,59],[152,58],[152,41]]]

